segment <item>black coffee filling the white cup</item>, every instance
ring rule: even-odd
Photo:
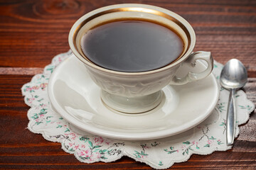
[[[174,62],[183,40],[173,30],[149,21],[114,21],[87,31],[81,39],[93,63],[119,72],[146,72]]]

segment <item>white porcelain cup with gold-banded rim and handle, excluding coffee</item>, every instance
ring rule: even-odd
[[[83,54],[80,41],[87,30],[102,23],[117,20],[146,20],[171,27],[183,39],[182,55],[165,67],[148,72],[117,72],[105,69],[91,62]],[[122,113],[145,113],[159,106],[163,100],[161,89],[169,84],[181,85],[207,77],[213,69],[210,52],[193,52],[196,35],[191,25],[176,13],[144,4],[117,4],[98,8],[82,16],[70,30],[68,42],[74,55],[81,60],[87,72],[102,89],[103,103],[114,111]],[[184,72],[183,67],[196,67],[196,60],[207,62],[207,68],[201,73]]]

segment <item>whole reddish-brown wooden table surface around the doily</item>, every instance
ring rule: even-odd
[[[68,33],[75,21],[95,8],[120,3],[161,6],[178,13],[196,31],[195,50],[212,52],[225,64],[245,64],[248,98],[256,103],[256,1],[233,0],[34,0],[0,1],[0,169],[151,169],[123,157],[117,162],[83,164],[42,135],[30,132],[28,106],[21,86],[69,50]],[[256,169],[256,114],[240,126],[233,149],[201,156],[170,169]]]

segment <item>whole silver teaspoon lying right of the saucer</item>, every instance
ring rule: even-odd
[[[227,145],[233,145],[235,137],[235,91],[247,83],[247,71],[239,60],[229,60],[220,74],[220,84],[230,90],[227,112]]]

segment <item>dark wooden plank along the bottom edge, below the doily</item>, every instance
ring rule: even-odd
[[[255,153],[241,152],[214,152],[210,155],[193,155],[188,162],[176,163],[172,169],[255,169]],[[225,159],[223,159],[225,157]],[[24,159],[25,158],[25,159]],[[78,162],[73,156],[48,155],[48,156],[9,156],[1,157],[1,167],[27,168],[27,169],[151,169],[146,164],[134,162],[123,157],[117,162],[84,164]]]

